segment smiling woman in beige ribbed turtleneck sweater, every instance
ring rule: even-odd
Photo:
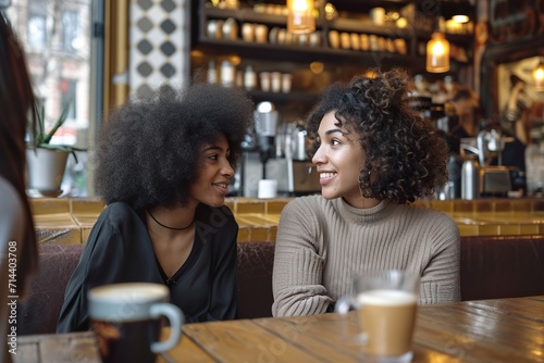
[[[446,214],[410,205],[447,182],[446,141],[407,103],[399,70],[335,84],[307,129],[320,196],[283,210],[273,271],[274,316],[334,310],[366,270],[421,275],[420,303],[460,300],[459,230]]]

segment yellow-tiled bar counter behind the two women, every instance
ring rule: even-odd
[[[280,214],[292,198],[227,198],[239,224],[238,241],[274,241]],[[418,201],[450,215],[461,236],[544,235],[544,199]],[[99,199],[30,199],[38,243],[85,243],[103,210]]]

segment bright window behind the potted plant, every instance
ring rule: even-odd
[[[103,0],[12,0],[4,11],[24,46],[36,99],[45,105],[46,127],[52,127],[66,104],[66,122],[51,142],[88,149],[94,130],[91,79],[101,75],[91,52],[95,5]],[[98,8],[98,7],[96,7]],[[91,64],[95,62],[96,64]],[[98,72],[97,72],[98,73]],[[70,157],[62,183],[63,196],[92,196],[87,152]]]

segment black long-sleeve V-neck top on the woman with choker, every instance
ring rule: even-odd
[[[100,214],[66,286],[58,333],[89,329],[87,292],[96,286],[166,284],[144,221],[144,211],[122,202],[108,205]],[[183,311],[186,322],[236,318],[238,225],[227,206],[200,204],[195,228],[187,261],[166,284],[171,302]]]

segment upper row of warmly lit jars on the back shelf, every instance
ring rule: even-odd
[[[317,32],[310,35],[293,35],[285,28],[286,21],[286,15],[281,12],[274,14],[247,8],[225,10],[203,7],[194,48],[206,51],[214,48],[215,52],[227,48],[236,52],[251,52],[254,55],[260,51],[273,50],[279,59],[299,58],[307,61],[314,57],[316,60],[336,63],[351,62],[350,57],[372,61],[376,58],[375,52],[403,55],[398,59],[387,57],[393,62],[404,63],[406,58],[410,57],[409,49],[412,47],[407,45],[409,37],[405,33],[394,32],[391,26],[367,24],[366,27],[361,26],[364,25],[361,22],[320,17],[317,20]],[[355,53],[350,55],[345,51]],[[268,52],[265,54],[270,55]]]

